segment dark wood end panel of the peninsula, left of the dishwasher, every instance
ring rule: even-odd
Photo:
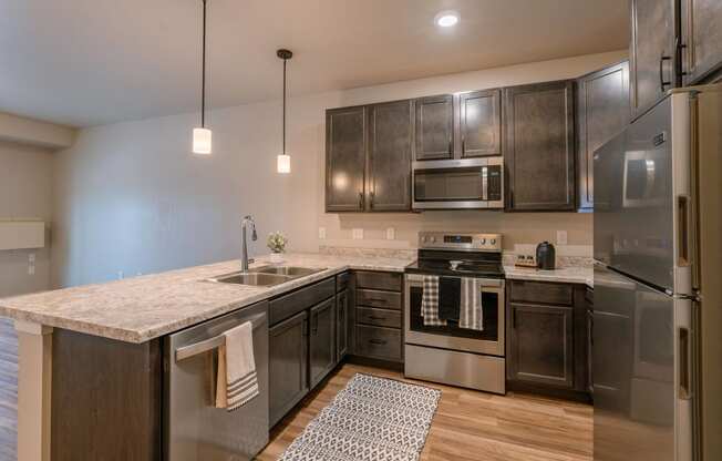
[[[52,342],[52,460],[159,460],[161,341],[55,329]]]

